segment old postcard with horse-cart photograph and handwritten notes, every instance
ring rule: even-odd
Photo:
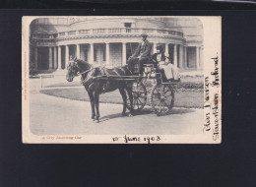
[[[23,143],[222,142],[222,17],[22,24]]]

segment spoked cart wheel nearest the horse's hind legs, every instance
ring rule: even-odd
[[[147,90],[142,82],[133,83],[133,109],[135,112],[144,108],[147,102]],[[127,108],[131,110],[130,97],[127,94]]]

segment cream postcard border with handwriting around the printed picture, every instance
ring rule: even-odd
[[[164,16],[159,16],[163,18]],[[30,24],[36,18],[53,18],[48,16],[43,17],[23,17],[22,19],[22,109],[23,109],[23,143],[27,144],[149,144],[148,138],[155,137],[155,141],[151,141],[151,144],[220,144],[222,142],[222,17],[189,17],[197,18],[203,24],[204,30],[204,77],[209,77],[209,82],[214,81],[214,76],[211,72],[215,70],[214,58],[219,57],[218,69],[220,77],[220,87],[210,87],[210,104],[211,107],[204,108],[204,120],[206,121],[206,113],[210,112],[211,116],[211,130],[204,131],[204,123],[202,121],[202,134],[199,135],[126,135],[130,137],[140,137],[140,142],[125,143],[125,135],[86,135],[86,136],[74,136],[74,135],[61,135],[62,137],[73,137],[73,140],[57,140],[57,135],[43,135],[36,136],[32,134],[30,130],[30,84],[29,84],[29,57],[30,57]],[[59,18],[59,17],[58,17]],[[63,17],[67,18],[67,17]],[[92,18],[92,17],[91,17]],[[106,18],[106,17],[104,17]],[[112,18],[112,17],[107,17]],[[126,17],[128,18],[128,17]],[[140,17],[149,18],[149,17]],[[171,18],[171,17],[168,17]],[[173,18],[173,17],[172,17]],[[175,17],[174,17],[175,18]],[[178,18],[184,18],[178,16]],[[186,18],[188,18],[186,16]],[[219,94],[218,108],[219,115],[215,118],[213,114],[214,107],[214,95]],[[206,97],[204,97],[206,99]],[[214,140],[215,119],[219,121],[219,137]],[[156,141],[160,136],[160,141]],[[76,139],[76,137],[82,137]],[[113,142],[113,137],[120,137],[118,141]],[[146,138],[146,140],[145,140]],[[145,141],[144,141],[145,140]]]

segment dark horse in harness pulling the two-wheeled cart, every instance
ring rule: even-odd
[[[91,106],[92,106],[92,119],[98,123],[99,122],[99,110],[98,101],[99,94],[113,92],[119,90],[123,99],[123,111],[122,115],[126,115],[127,106],[127,95],[130,100],[130,114],[132,116],[134,113],[133,108],[133,94],[132,94],[132,83],[124,80],[108,79],[109,75],[113,76],[132,76],[132,72],[127,68],[127,66],[122,66],[119,68],[107,69],[104,67],[93,67],[93,65],[78,59],[75,57],[73,61],[69,62],[67,67],[66,80],[72,82],[74,77],[81,75],[81,82],[89,94]],[[100,79],[98,77],[104,77],[105,79]],[[126,92],[125,92],[126,91]]]

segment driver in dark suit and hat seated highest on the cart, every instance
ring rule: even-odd
[[[143,64],[148,63],[151,53],[151,44],[147,40],[147,33],[142,34],[142,42],[139,44],[134,54],[128,59],[128,68],[133,72],[133,66],[136,62],[139,63],[140,75],[143,74]]]

